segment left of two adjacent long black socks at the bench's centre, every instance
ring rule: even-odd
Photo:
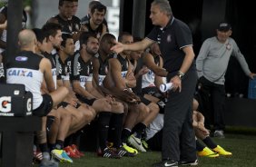
[[[98,118],[98,135],[99,145],[102,151],[106,148],[106,141],[108,137],[109,122],[112,113],[103,112],[99,114]]]

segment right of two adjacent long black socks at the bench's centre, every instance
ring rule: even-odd
[[[121,146],[121,134],[122,134],[122,124],[123,124],[123,113],[113,113],[111,117],[111,125],[114,130],[113,133],[113,147],[119,148]]]

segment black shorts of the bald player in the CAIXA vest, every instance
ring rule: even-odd
[[[36,108],[33,111],[33,115],[35,116],[40,116],[40,117],[46,116],[53,109],[54,101],[52,99],[52,96],[47,93],[43,94],[42,96],[43,96],[43,102],[38,108]]]

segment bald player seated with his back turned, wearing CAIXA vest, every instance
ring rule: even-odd
[[[62,102],[68,94],[65,87],[55,90],[52,74],[52,64],[41,55],[35,54],[36,37],[33,31],[25,29],[18,34],[18,44],[21,52],[10,57],[6,64],[6,83],[21,83],[25,90],[33,93],[33,114],[44,117],[53,107]],[[41,86],[45,81],[49,94],[41,93]],[[46,142],[46,119],[43,118],[42,131],[37,132],[43,160],[40,167],[57,167],[58,163],[50,160]]]

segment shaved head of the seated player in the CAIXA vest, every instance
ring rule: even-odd
[[[21,48],[33,46],[36,41],[35,34],[32,30],[25,29],[18,34],[19,44]]]

